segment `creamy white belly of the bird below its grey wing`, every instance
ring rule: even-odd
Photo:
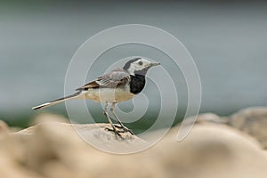
[[[85,99],[101,102],[120,102],[128,101],[134,97],[128,89],[122,88],[97,88],[89,89],[85,92]]]

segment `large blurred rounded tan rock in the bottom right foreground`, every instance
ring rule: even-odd
[[[185,140],[174,142],[178,128],[174,129],[147,156],[158,155],[165,177],[260,178],[267,172],[259,143],[238,130],[227,125],[195,125]]]

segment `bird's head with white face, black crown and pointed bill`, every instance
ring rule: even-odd
[[[160,65],[159,62],[152,62],[143,58],[134,58],[125,63],[124,69],[131,75],[139,74],[145,76],[147,71],[153,67]]]

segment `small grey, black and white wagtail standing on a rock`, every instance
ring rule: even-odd
[[[151,67],[160,65],[159,62],[152,62],[142,57],[134,57],[125,62],[122,69],[113,69],[101,77],[76,89],[76,93],[63,97],[55,101],[49,101],[44,104],[33,107],[32,109],[44,109],[46,107],[69,101],[72,99],[85,99],[104,103],[103,113],[108,118],[112,131],[116,136],[121,133],[130,133],[134,135],[131,129],[128,129],[117,117],[114,109],[118,102],[128,101],[141,93],[146,84],[146,74]],[[109,111],[117,120],[119,125],[113,124]]]

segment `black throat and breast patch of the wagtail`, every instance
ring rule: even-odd
[[[130,92],[134,94],[141,93],[145,84],[146,84],[146,79],[143,75],[139,74],[135,74],[135,76],[131,75]]]

